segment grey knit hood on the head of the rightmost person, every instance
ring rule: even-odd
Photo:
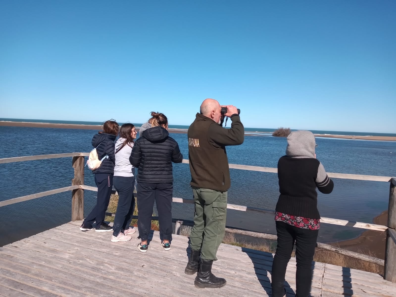
[[[293,131],[287,136],[286,155],[294,158],[315,158],[315,136],[311,131]]]

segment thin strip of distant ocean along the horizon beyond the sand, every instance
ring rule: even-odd
[[[50,123],[50,124],[72,124],[72,125],[102,125],[103,122],[83,122],[83,121],[58,121],[58,120],[32,120],[32,119],[15,119],[15,118],[0,118],[0,121],[9,122],[33,122],[33,123]],[[124,124],[124,123],[119,123]],[[142,125],[138,123],[132,123],[137,127]],[[227,128],[230,127],[230,121],[227,122]],[[188,129],[188,126],[183,125],[169,125],[171,129]],[[246,128],[245,132],[256,132],[256,133],[271,133],[276,128]],[[295,129],[291,129],[295,131]],[[322,130],[310,130],[314,134],[327,134],[327,135],[355,135],[355,136],[389,136],[396,137],[396,133],[372,133],[372,132],[352,132],[352,131],[322,131]]]

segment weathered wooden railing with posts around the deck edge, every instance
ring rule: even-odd
[[[72,221],[78,221],[84,219],[84,190],[92,190],[97,191],[96,187],[91,187],[84,185],[84,157],[89,156],[89,153],[84,152],[75,152],[68,154],[49,154],[49,155],[38,155],[38,156],[24,156],[24,157],[15,157],[15,158],[3,158],[0,159],[0,164],[11,163],[11,162],[22,162],[22,161],[30,161],[30,160],[43,160],[43,159],[51,159],[51,158],[65,158],[72,157],[72,167],[74,168],[74,179],[72,179],[72,185],[69,187],[57,188],[53,190],[48,190],[45,192],[40,192],[36,194],[30,194],[27,196],[21,196],[9,200],[0,201],[0,207],[23,202],[31,199],[36,199],[52,194],[72,191]],[[188,160],[183,160],[183,163],[188,164]],[[270,172],[276,173],[276,168],[269,167],[259,167],[259,166],[247,166],[247,165],[239,165],[239,164],[229,164],[230,168],[233,169],[242,169],[249,171],[261,171],[261,172]],[[389,280],[391,282],[396,282],[396,178],[394,177],[386,177],[386,176],[377,176],[377,175],[357,175],[357,174],[345,174],[345,173],[328,173],[329,177],[339,178],[339,179],[355,179],[355,180],[363,180],[363,181],[382,181],[382,182],[390,182],[390,190],[389,190],[389,205],[388,205],[388,223],[387,226],[383,225],[375,225],[371,223],[362,223],[362,222],[353,222],[346,221],[340,219],[332,219],[321,217],[321,223],[331,224],[331,225],[341,225],[347,227],[355,227],[362,228],[368,230],[377,230],[377,231],[386,231],[386,252],[385,252],[385,261],[362,255],[360,253],[355,253],[352,251],[348,251],[345,249],[340,249],[335,246],[331,246],[329,244],[323,244],[318,242],[317,246],[322,249],[327,249],[330,251],[334,251],[336,253],[340,253],[342,255],[346,255],[349,257],[353,257],[356,259],[360,259],[363,261],[367,261],[370,263],[383,265],[385,267],[384,278],[385,280]],[[115,192],[115,191],[113,191]],[[173,198],[173,202],[178,203],[188,203],[194,204],[194,200],[192,199],[184,199],[184,198]],[[274,210],[262,209],[262,208],[253,208],[249,206],[241,206],[236,204],[227,204],[228,209],[235,209],[239,211],[247,211],[247,212],[255,212],[255,213],[269,213],[274,214]],[[107,213],[108,215],[113,215],[112,213]],[[137,216],[134,216],[137,219]],[[157,219],[157,217],[153,217],[152,219]],[[180,229],[181,225],[192,226],[193,222],[184,220],[184,219],[173,219],[173,222],[176,223],[176,233]],[[244,230],[241,228],[232,228],[227,227],[227,232],[234,234],[242,234],[253,236],[257,238],[263,238],[268,240],[276,240],[275,234],[266,234],[261,232],[255,232],[251,230]]]

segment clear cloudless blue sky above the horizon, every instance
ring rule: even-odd
[[[0,0],[0,117],[396,132],[396,1]],[[228,126],[228,125],[227,125]]]

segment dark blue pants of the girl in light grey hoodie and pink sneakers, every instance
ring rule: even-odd
[[[129,225],[131,225],[133,210],[135,209],[135,197],[133,197],[135,177],[115,176],[113,184],[118,192],[118,204],[116,217],[114,218],[113,235],[118,236],[121,229],[128,229]]]

